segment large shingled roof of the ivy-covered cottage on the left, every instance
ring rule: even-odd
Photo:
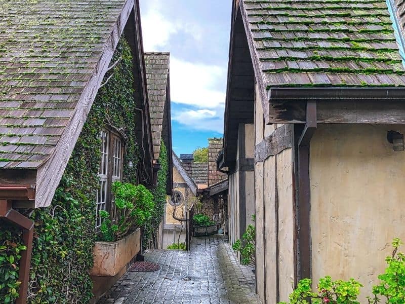
[[[0,0],[0,167],[37,168],[63,136],[74,145],[65,129],[86,117],[133,6]]]

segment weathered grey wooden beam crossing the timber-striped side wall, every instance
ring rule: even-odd
[[[255,163],[277,155],[292,147],[294,125],[286,124],[274,130],[270,136],[255,145]]]

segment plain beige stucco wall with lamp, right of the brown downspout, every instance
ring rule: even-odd
[[[312,273],[315,282],[359,280],[366,302],[394,237],[405,238],[405,152],[388,125],[319,126],[311,140]]]

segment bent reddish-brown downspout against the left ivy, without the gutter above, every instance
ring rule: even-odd
[[[18,191],[19,189],[16,189]],[[27,191],[23,189],[24,193]],[[23,242],[27,247],[27,250],[21,252],[20,270],[18,274],[18,280],[21,282],[19,288],[19,297],[16,299],[16,304],[26,304],[29,282],[29,269],[31,264],[32,253],[32,239],[34,234],[34,222],[29,218],[22,215],[20,212],[12,208],[11,200],[0,200],[0,218],[7,220],[8,222],[21,227],[23,230]]]

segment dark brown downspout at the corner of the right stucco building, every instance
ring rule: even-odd
[[[298,280],[312,277],[309,143],[316,127],[316,102],[309,101],[306,124],[298,140]]]

